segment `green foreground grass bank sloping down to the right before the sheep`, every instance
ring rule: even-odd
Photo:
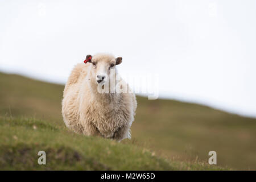
[[[40,119],[0,118],[0,169],[5,170],[174,170],[219,169],[204,163],[177,163],[135,144],[84,137]],[[47,165],[39,165],[38,151]]]

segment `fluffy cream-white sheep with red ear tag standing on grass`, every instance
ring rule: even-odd
[[[110,78],[117,79],[116,65],[122,57],[98,53],[87,55],[85,63],[73,68],[65,84],[62,101],[62,115],[65,125],[76,133],[87,136],[101,136],[117,141],[131,138],[130,127],[134,121],[137,101],[130,92],[98,92],[98,88],[110,88]],[[121,87],[126,83],[119,79]],[[113,88],[113,85],[112,85]]]

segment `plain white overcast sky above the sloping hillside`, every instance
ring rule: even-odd
[[[64,83],[97,52],[160,97],[256,117],[256,1],[0,0],[0,71]]]

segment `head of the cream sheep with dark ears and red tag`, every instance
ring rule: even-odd
[[[91,76],[96,79],[97,84],[104,84],[106,80],[114,78],[112,75],[115,66],[122,63],[122,57],[115,58],[112,55],[98,54],[98,55],[87,55],[85,63],[91,65]]]

